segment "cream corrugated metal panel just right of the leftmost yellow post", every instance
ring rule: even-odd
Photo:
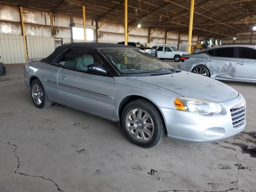
[[[29,59],[46,58],[55,50],[52,37],[26,36],[26,39]]]

